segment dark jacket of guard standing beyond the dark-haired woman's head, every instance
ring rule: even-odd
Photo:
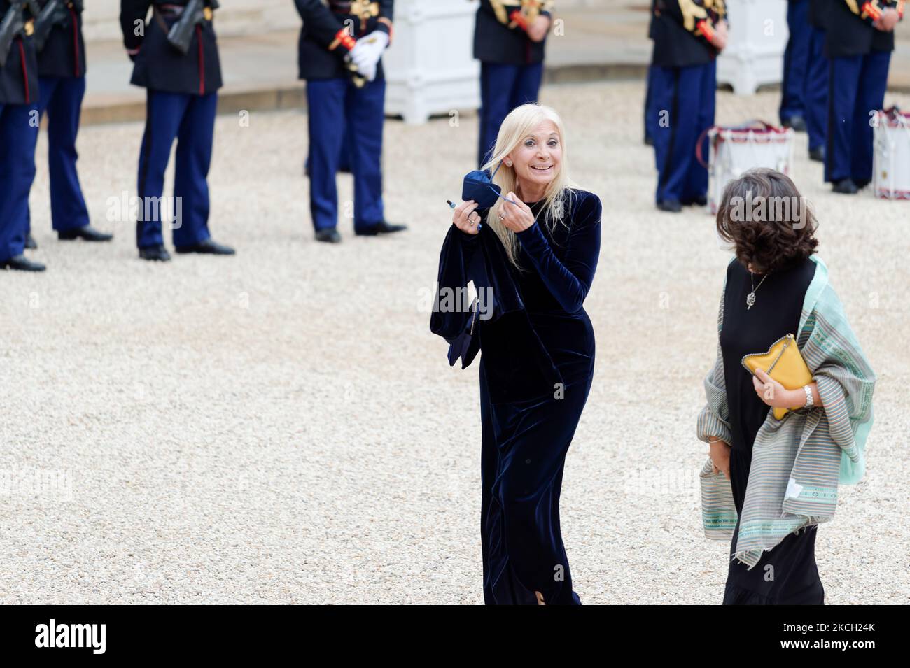
[[[652,65],[706,65],[717,57],[709,41],[726,17],[723,0],[653,0]]]

